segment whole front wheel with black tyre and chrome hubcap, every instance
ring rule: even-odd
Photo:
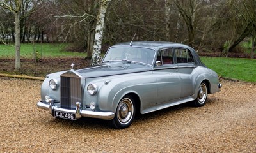
[[[116,114],[111,121],[111,126],[116,129],[128,128],[135,117],[135,105],[131,96],[125,96],[116,108]]]

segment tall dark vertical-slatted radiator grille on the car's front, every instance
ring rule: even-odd
[[[76,109],[76,102],[82,102],[81,78],[60,78],[60,106],[66,109]]]

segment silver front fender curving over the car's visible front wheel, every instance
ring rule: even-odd
[[[106,81],[98,93],[99,109],[116,112],[117,105],[127,94],[136,94],[141,110],[155,105],[157,101],[156,78],[151,75],[119,77]]]

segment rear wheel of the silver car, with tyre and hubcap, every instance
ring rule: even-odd
[[[202,82],[198,88],[197,98],[195,99],[195,106],[204,106],[207,99],[207,85]]]

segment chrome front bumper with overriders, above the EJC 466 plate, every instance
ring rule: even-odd
[[[51,100],[49,103],[38,101],[37,107],[44,110],[49,110],[51,115],[53,115],[54,110],[66,113],[75,113],[76,119],[80,119],[81,117],[92,117],[97,119],[111,120],[115,116],[113,112],[94,112],[92,110],[81,110],[81,103],[79,102],[76,103],[76,110],[60,108],[60,106],[54,105],[54,101]]]

